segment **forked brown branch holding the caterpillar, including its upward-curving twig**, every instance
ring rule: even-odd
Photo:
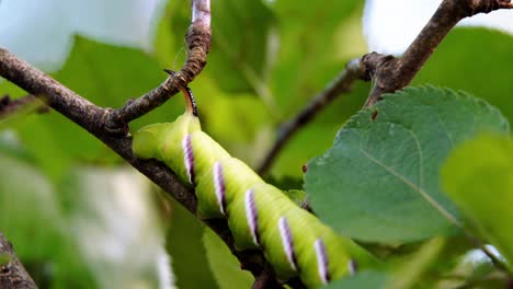
[[[166,80],[162,85],[121,109],[103,108],[92,104],[3,48],[0,48],[0,76],[36,97],[44,97],[49,107],[99,138],[195,215],[197,199],[194,192],[182,184],[163,163],[135,158],[132,153],[132,138],[125,134],[126,123],[163,103],[191,82],[205,66],[210,43],[209,0],[193,0],[192,3],[192,23],[186,35],[190,53],[183,68],[176,72],[176,76]],[[238,252],[235,248],[233,236],[226,220],[207,220],[205,223],[224,240],[239,258],[243,268],[251,271],[253,276],[258,277],[262,271],[272,270],[272,266],[265,261],[262,252]],[[275,282],[278,281],[275,280]]]

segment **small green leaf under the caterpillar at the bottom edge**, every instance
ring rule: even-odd
[[[240,268],[239,261],[231,254],[223,240],[212,230],[205,229],[203,243],[210,264],[210,270],[220,289],[251,288],[253,276]]]

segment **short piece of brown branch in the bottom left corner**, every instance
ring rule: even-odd
[[[0,232],[0,288],[37,289],[12,244]]]

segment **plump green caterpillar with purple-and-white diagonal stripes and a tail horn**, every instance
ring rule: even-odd
[[[142,127],[133,152],[157,159],[195,187],[201,219],[226,218],[237,250],[262,250],[280,280],[299,277],[307,287],[352,275],[374,257],[266,184],[242,161],[202,131],[191,89],[186,111],[173,123]]]

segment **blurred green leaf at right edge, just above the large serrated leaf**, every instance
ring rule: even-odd
[[[414,84],[461,89],[500,107],[513,120],[513,37],[497,30],[457,27],[447,35]],[[483,57],[483,51],[488,57]]]

